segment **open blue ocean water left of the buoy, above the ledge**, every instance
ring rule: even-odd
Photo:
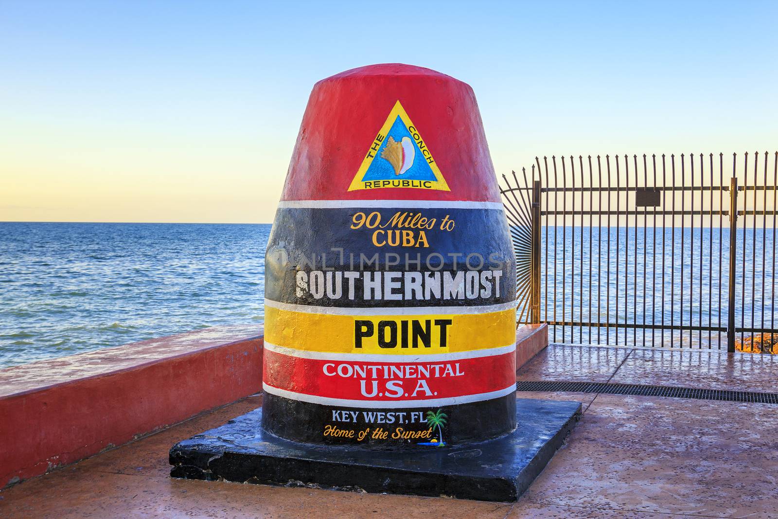
[[[261,323],[270,227],[0,223],[0,367]]]

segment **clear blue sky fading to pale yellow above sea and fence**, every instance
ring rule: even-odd
[[[0,0],[0,221],[270,222],[310,88],[404,62],[535,155],[774,150],[778,2]]]

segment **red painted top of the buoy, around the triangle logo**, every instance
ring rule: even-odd
[[[391,187],[349,191],[398,101],[419,129],[450,191]],[[398,63],[353,68],[322,79],[310,93],[282,200],[499,202],[473,89],[429,68]]]

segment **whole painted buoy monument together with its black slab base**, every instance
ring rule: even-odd
[[[177,444],[171,474],[515,500],[579,409],[517,402],[515,299],[471,87],[317,82],[265,256],[262,409]]]

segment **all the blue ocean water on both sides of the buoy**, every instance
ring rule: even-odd
[[[0,223],[0,367],[261,323],[270,228]],[[772,328],[775,233],[738,229],[736,240],[736,324]],[[549,338],[714,349],[723,340],[726,347],[724,334],[695,328],[727,323],[728,249],[728,231],[719,228],[544,227],[542,319],[684,328],[559,326]]]

